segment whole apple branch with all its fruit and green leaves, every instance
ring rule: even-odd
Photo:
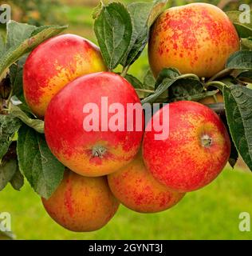
[[[140,213],[167,210],[227,162],[234,167],[238,155],[252,170],[251,21],[206,3],[166,4],[100,2],[99,47],[61,34],[67,26],[7,23],[0,190],[9,182],[21,190],[26,178],[57,223],[84,232],[107,224],[120,203]],[[147,44],[150,70],[140,81],[130,67]],[[123,123],[128,104],[165,105],[142,130],[85,130],[84,106],[101,110],[103,97],[124,107]],[[169,136],[156,140],[149,128],[165,113]]]

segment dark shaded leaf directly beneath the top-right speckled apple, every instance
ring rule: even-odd
[[[203,84],[195,78],[184,78],[176,81],[169,88],[169,102],[195,101],[214,96],[219,90],[205,90]]]

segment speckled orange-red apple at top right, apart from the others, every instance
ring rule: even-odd
[[[240,49],[238,33],[217,6],[192,3],[167,9],[152,27],[149,63],[155,76],[163,68],[210,78]]]

